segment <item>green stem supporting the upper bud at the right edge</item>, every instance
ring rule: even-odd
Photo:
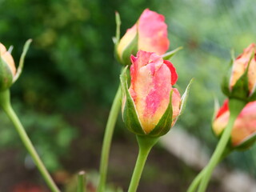
[[[198,192],[203,192],[206,190],[206,187],[208,186],[208,182],[210,181],[210,176],[214,170],[214,167],[217,166],[219,159],[222,157],[222,154],[230,139],[230,134],[234,126],[234,122],[244,106],[246,106],[246,102],[243,102],[237,99],[230,99],[229,101],[230,119],[229,119],[228,125],[223,131],[222,137],[218,142],[218,146],[216,147],[216,150],[214,150],[214,154],[210,158],[210,162],[205,167],[206,172],[204,174],[204,177],[202,178],[202,182],[200,183]]]

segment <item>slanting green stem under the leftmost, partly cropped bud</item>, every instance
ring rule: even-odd
[[[2,109],[6,112],[7,116],[10,118],[10,121],[13,122],[20,138],[22,139],[24,146],[26,147],[26,150],[33,158],[34,164],[38,166],[38,170],[42,174],[42,177],[45,179],[47,185],[50,187],[50,190],[53,192],[59,192],[60,190],[58,190],[58,187],[54,183],[53,179],[50,177],[50,174],[46,170],[46,167],[43,165],[36,150],[34,149],[32,142],[30,141],[30,138],[27,136],[26,131],[22,126],[22,123],[19,121],[10,104],[10,90],[4,90],[0,92],[0,105],[2,106]]]

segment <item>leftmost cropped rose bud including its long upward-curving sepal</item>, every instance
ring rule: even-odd
[[[19,78],[20,74],[22,74],[24,58],[31,42],[31,39],[26,41],[17,70],[14,58],[0,42],[0,91],[10,88],[10,86]]]

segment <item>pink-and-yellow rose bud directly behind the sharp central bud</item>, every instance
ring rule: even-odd
[[[118,59],[123,65],[131,65],[130,55],[138,50],[162,55],[169,48],[167,25],[162,14],[146,9],[133,27],[126,31],[117,45]]]

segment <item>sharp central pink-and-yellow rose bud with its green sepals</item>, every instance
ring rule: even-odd
[[[171,62],[152,52],[140,50],[131,62],[129,90],[126,70],[121,74],[123,121],[135,134],[159,137],[174,126],[186,100],[173,87],[178,74]]]

